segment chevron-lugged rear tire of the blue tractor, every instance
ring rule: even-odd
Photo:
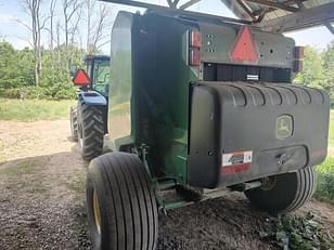
[[[78,105],[78,141],[81,156],[91,160],[103,153],[103,116],[97,106],[79,102]]]

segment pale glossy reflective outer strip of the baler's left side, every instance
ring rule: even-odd
[[[107,126],[113,150],[133,143],[136,136],[132,129],[132,13],[119,12],[112,31]]]

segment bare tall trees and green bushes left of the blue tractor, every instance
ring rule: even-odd
[[[112,10],[95,0],[20,0],[27,18],[29,48],[15,50],[0,40],[0,94],[8,97],[75,96],[69,68],[85,54],[100,54],[110,42]],[[22,14],[23,14],[22,13]]]

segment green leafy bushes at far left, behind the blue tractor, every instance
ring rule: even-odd
[[[29,49],[14,50],[10,43],[0,41],[0,96],[8,98],[75,98],[76,89],[69,78],[68,65],[82,67],[82,55],[84,51],[75,47],[61,45],[52,51],[42,51],[40,83],[36,87],[34,52]]]

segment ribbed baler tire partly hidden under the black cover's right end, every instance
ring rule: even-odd
[[[300,169],[269,177],[261,187],[245,192],[249,201],[260,210],[270,213],[285,213],[308,201],[316,187],[314,168]]]

